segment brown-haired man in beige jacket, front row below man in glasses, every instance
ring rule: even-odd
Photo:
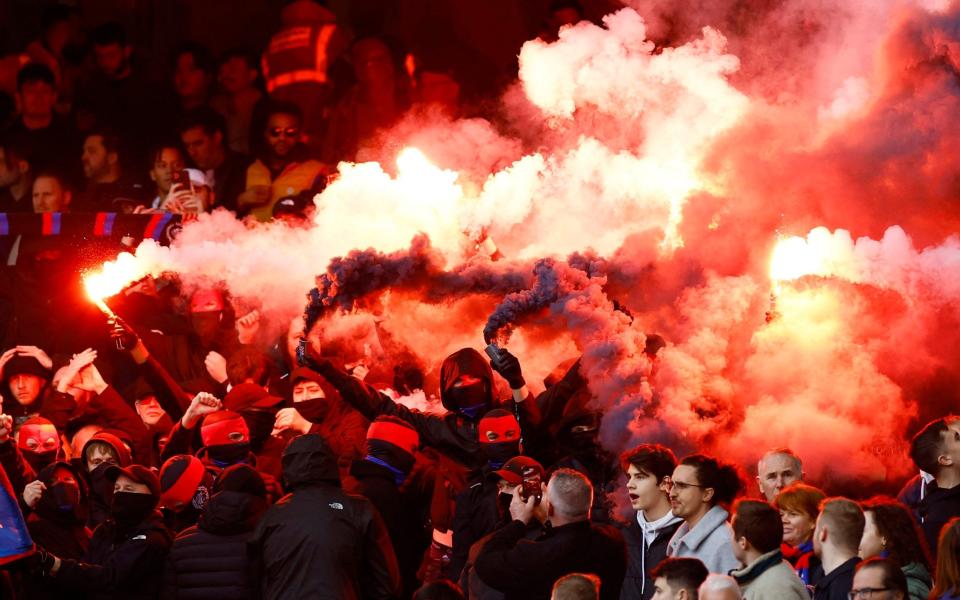
[[[783,559],[783,523],[766,502],[741,500],[734,506],[733,553],[744,566],[730,574],[746,600],[808,600],[806,586]]]

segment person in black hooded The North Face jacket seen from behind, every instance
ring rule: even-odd
[[[393,546],[369,500],[340,488],[337,462],[315,434],[283,453],[292,490],[254,531],[263,597],[393,598],[400,592]]]

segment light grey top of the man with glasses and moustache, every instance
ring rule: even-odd
[[[693,529],[684,523],[670,539],[667,555],[699,558],[708,571],[721,575],[738,568],[740,561],[733,555],[729,516],[722,507],[714,506]]]

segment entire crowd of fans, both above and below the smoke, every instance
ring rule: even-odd
[[[581,17],[554,2],[542,35]],[[303,219],[378,131],[461,111],[442,61],[410,66],[312,0],[283,21],[257,51],[185,45],[164,80],[118,25],[79,52],[75,14],[49,10],[17,59],[0,213]],[[0,249],[11,266],[29,244]],[[267,337],[217,289],[148,279],[86,326],[25,297],[0,323],[4,597],[960,598],[957,417],[913,437],[896,499],[831,496],[786,448],[754,490],[722,458],[611,454],[579,363],[535,396],[505,349],[298,359],[302,321]],[[418,391],[444,410],[408,408]]]

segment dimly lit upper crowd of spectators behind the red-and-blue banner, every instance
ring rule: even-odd
[[[583,12],[557,2],[550,15],[545,36]],[[286,3],[281,18],[266,48],[214,56],[186,43],[158,69],[119,24],[84,31],[73,9],[54,5],[38,38],[0,60],[0,80],[15,67],[19,109],[0,122],[0,212],[224,207],[270,220],[411,111],[461,113],[441,52],[354,35],[313,0]],[[284,206],[299,214],[305,204]]]

